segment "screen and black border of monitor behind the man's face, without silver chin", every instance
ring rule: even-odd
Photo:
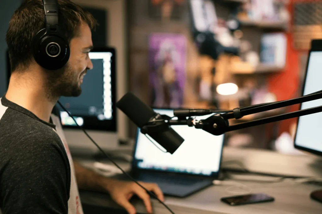
[[[85,129],[116,131],[115,52],[112,48],[93,50],[89,57],[93,69],[87,71],[79,97],[61,97],[59,101]],[[59,107],[60,108],[60,107]],[[64,127],[77,128],[67,112],[60,108]]]

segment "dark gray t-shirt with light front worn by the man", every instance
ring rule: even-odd
[[[59,119],[0,98],[0,212],[82,214]]]

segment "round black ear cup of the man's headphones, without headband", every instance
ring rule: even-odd
[[[47,70],[62,68],[69,60],[70,49],[66,39],[59,34],[47,34],[40,30],[33,40],[33,57]]]

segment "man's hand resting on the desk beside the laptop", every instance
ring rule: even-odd
[[[157,184],[143,182],[138,183],[144,186],[148,191],[154,192],[161,201],[164,201],[163,193]],[[111,195],[112,199],[120,206],[124,207],[129,214],[136,213],[134,206],[129,202],[134,194],[143,200],[147,212],[152,213],[150,195],[136,183],[114,180],[113,184],[110,186],[109,194]]]

